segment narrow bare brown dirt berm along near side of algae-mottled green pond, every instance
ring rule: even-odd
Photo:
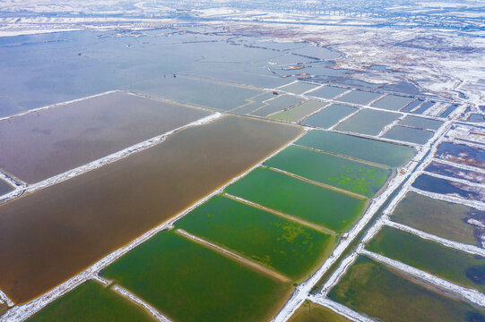
[[[264,267],[263,265],[260,265],[258,263],[255,263],[254,261],[252,261],[250,259],[247,259],[247,258],[239,255],[238,253],[236,253],[236,252],[234,252],[232,250],[226,250],[226,249],[224,249],[224,248],[222,248],[220,246],[217,246],[217,245],[213,244],[212,242],[204,241],[202,238],[197,237],[197,236],[194,236],[191,233],[187,233],[183,229],[178,229],[176,231],[176,233],[178,233],[179,235],[185,237],[189,241],[196,242],[198,244],[203,245],[204,247],[210,248],[211,250],[215,250],[218,253],[220,253],[222,256],[225,256],[227,258],[236,260],[239,263],[243,264],[244,266],[250,267],[250,268],[255,269],[255,270],[257,270],[257,271],[259,271],[261,273],[264,273],[265,275],[269,275],[269,276],[271,276],[273,278],[276,278],[277,280],[279,280],[279,281],[281,281],[283,283],[290,282],[290,278],[289,277],[287,277],[285,275],[281,275],[280,273],[277,273],[277,272],[273,271],[272,269],[270,269],[268,267]]]

